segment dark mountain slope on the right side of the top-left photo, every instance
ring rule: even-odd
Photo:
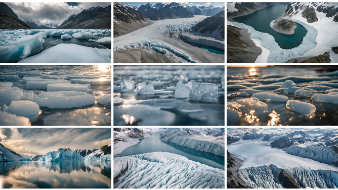
[[[69,16],[57,29],[111,29],[112,6],[96,6]]]

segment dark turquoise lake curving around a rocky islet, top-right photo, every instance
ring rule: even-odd
[[[233,21],[252,26],[256,31],[268,33],[275,38],[281,48],[292,49],[301,44],[307,30],[295,22],[297,27],[293,35],[281,34],[274,31],[270,27],[270,22],[280,17],[284,13],[285,8],[286,5],[284,4],[276,4],[257,10],[249,15],[236,17]]]

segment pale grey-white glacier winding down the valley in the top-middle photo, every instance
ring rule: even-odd
[[[224,55],[185,45],[182,41],[170,37],[170,33],[189,30],[205,18],[207,18],[207,16],[194,15],[194,17],[191,18],[155,20],[153,21],[154,24],[115,37],[113,39],[114,51],[152,46],[162,48],[163,50],[161,49],[161,51],[157,49],[157,51],[161,53],[169,55],[170,51],[173,55],[183,57],[183,59],[178,59],[183,62],[220,62]],[[203,57],[196,52],[203,54]]]

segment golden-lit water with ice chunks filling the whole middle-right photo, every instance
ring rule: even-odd
[[[228,67],[228,124],[338,125],[337,69]]]

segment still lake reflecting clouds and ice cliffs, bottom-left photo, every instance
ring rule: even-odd
[[[0,189],[111,188],[111,162],[0,163]]]

